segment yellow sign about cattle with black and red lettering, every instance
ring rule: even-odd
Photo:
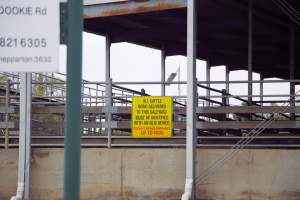
[[[172,97],[146,96],[132,98],[132,137],[172,137],[172,118]]]

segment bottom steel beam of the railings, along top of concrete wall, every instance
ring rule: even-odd
[[[106,147],[106,137],[105,136],[83,136],[82,137],[82,147],[86,148],[103,148]],[[198,136],[198,140],[206,140],[204,143],[198,144],[197,147],[225,147],[231,148],[234,145],[234,141],[240,139],[246,139],[246,137],[242,136]],[[252,144],[246,145],[247,147],[256,147],[256,148],[299,148],[299,136],[291,135],[291,136],[257,136],[255,141]],[[12,141],[16,141],[17,139],[14,137]],[[33,136],[32,137],[32,147],[36,148],[63,148],[64,137],[63,136]],[[280,142],[280,144],[274,143],[274,141]],[[294,143],[290,143],[289,141],[293,140]],[[133,140],[131,136],[115,136],[114,137],[113,147],[119,148],[128,148],[128,147],[141,147],[141,148],[149,148],[149,147],[169,147],[169,148],[178,148],[185,147],[185,138],[181,136],[175,136],[169,139],[155,139],[151,143],[147,139],[138,139]],[[218,143],[216,143],[218,141]],[[259,142],[261,141],[261,142]],[[273,142],[271,142],[273,141]],[[256,142],[259,142],[256,143]],[[18,144],[15,142],[10,145],[13,148],[18,147]],[[0,144],[1,147],[1,144]]]

